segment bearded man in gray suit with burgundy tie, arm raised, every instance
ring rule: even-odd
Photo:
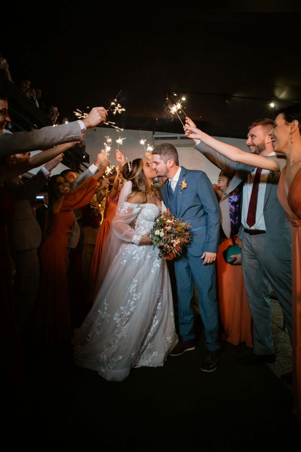
[[[194,126],[190,119],[188,123]],[[275,153],[270,137],[272,128],[272,119],[252,122],[246,144],[252,153],[269,155],[271,158],[281,160],[281,156],[273,156]],[[241,255],[237,254],[234,257],[235,264],[239,264],[241,256],[245,291],[254,321],[254,353],[240,360],[242,363],[250,364],[262,361],[273,363],[275,351],[271,329],[269,283],[282,308],[292,341],[291,224],[277,198],[280,173],[234,162],[202,141],[194,141],[199,152],[218,168],[231,174],[232,180],[224,196],[227,197],[227,194],[241,182],[244,184],[241,200],[242,249]],[[253,190],[257,191],[257,204],[252,220],[250,206],[251,199],[254,199]]]

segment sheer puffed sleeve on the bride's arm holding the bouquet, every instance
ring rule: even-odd
[[[111,227],[118,239],[139,245],[142,235],[134,231],[134,220],[141,210],[139,204],[124,202],[111,222]]]

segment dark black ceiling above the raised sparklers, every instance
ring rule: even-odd
[[[60,118],[73,120],[76,108],[108,108],[121,89],[126,111],[109,120],[182,133],[168,113],[168,93],[186,98],[185,112],[205,132],[245,138],[252,120],[274,118],[270,102],[301,101],[300,1],[99,3],[45,3],[18,27],[7,22],[0,52],[13,79],[30,78]]]

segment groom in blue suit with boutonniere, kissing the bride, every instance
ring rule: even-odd
[[[169,180],[162,185],[162,198],[171,215],[189,221],[192,241],[175,260],[181,340],[170,353],[181,355],[195,348],[192,297],[198,289],[199,311],[206,334],[206,355],[201,369],[212,372],[218,363],[218,303],[214,261],[218,252],[220,209],[213,186],[203,171],[179,166],[178,152],[170,143],[153,151],[153,169]]]

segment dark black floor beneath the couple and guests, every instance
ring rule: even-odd
[[[288,372],[290,344],[287,333],[277,325],[281,318],[276,317],[277,312],[273,315],[277,361],[282,363],[281,372]],[[218,369],[201,372],[201,327],[197,335],[194,351],[169,357],[163,367],[132,369],[121,383],[107,382],[97,372],[76,367],[70,344],[25,347],[21,390],[15,401],[5,394],[11,400],[7,428],[12,419],[17,424],[22,420],[27,438],[24,443],[24,436],[17,435],[14,442],[30,444],[32,450],[48,450],[52,441],[57,447],[74,450],[187,444],[248,450],[257,444],[287,446],[287,438],[293,442],[300,430],[292,413],[292,385],[279,379],[277,364],[241,364],[238,358],[252,349],[222,342]],[[287,364],[283,364],[285,356]]]

